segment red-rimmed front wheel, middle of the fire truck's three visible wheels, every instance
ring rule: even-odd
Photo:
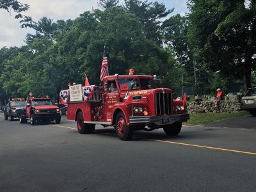
[[[115,118],[115,131],[120,140],[131,140],[133,127],[127,125],[124,113],[119,112]]]

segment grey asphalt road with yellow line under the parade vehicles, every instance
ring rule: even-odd
[[[31,126],[0,115],[0,191],[255,191],[255,144],[256,129],[240,127],[121,141],[100,125],[79,134],[65,118]]]

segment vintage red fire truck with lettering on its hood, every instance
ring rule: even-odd
[[[173,100],[169,88],[154,88],[152,76],[116,74],[104,77],[102,83],[93,87],[86,102],[68,102],[67,119],[77,122],[81,134],[92,133],[95,125],[101,124],[115,127],[120,140],[130,140],[133,131],[159,128],[175,136],[189,119],[186,96]]]

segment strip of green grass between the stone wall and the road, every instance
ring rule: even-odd
[[[190,119],[185,124],[189,125],[205,125],[228,118],[235,118],[237,116],[250,115],[247,111],[238,111],[236,113],[189,113]]]

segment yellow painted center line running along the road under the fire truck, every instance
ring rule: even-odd
[[[65,126],[61,126],[61,125],[52,125],[52,126],[77,130],[74,127],[65,127]],[[104,134],[111,134],[111,133],[104,133]],[[115,135],[115,134],[111,134],[111,135]],[[134,137],[134,138],[138,138],[138,137]],[[214,150],[223,150],[223,151],[227,151],[227,152],[236,152],[236,153],[250,154],[250,155],[256,156],[256,152],[246,152],[246,151],[243,151],[243,150],[232,150],[232,149],[227,149],[227,148],[209,147],[209,146],[204,146],[204,145],[194,145],[194,144],[189,144],[189,143],[179,143],[179,142],[165,141],[165,140],[153,140],[153,139],[148,139],[148,138],[138,138],[138,139],[149,140],[149,141],[157,141],[157,142],[161,142],[161,143],[170,143],[170,144],[175,144],[175,145],[184,145],[184,146],[190,146],[190,147],[209,148],[209,149],[214,149]]]

